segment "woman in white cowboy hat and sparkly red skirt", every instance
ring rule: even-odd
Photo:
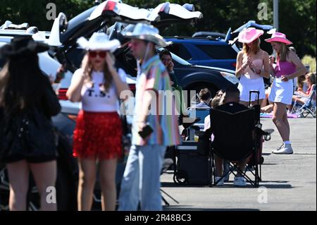
[[[73,138],[73,155],[80,168],[78,210],[90,210],[99,162],[102,209],[116,208],[116,163],[121,157],[122,126],[118,116],[119,96],[129,90],[124,71],[114,68],[111,51],[120,46],[116,39],[109,40],[104,33],[94,33],[89,39],[78,39],[87,49],[82,68],[75,71],[68,99],[81,102]]]

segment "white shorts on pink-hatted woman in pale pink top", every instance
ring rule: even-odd
[[[242,75],[240,78],[238,89],[240,90],[240,100],[243,102],[249,102],[249,93],[251,90],[260,92],[259,99],[266,98],[266,90],[264,88],[263,78],[249,79]],[[256,101],[256,97],[256,94],[252,94],[251,102]]]

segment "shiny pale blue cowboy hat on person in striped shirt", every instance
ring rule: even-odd
[[[123,30],[123,35],[132,39],[142,39],[148,42],[153,42],[157,47],[166,47],[166,40],[159,35],[159,30],[152,25],[145,23],[137,23],[133,28],[130,26],[130,30]]]

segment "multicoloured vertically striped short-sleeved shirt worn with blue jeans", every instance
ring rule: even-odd
[[[139,112],[146,110],[143,97],[145,91],[151,91],[154,98],[146,123],[154,130],[145,140],[139,136]],[[166,92],[165,91],[169,91]],[[172,93],[170,78],[159,56],[153,56],[142,65],[137,80],[135,93],[135,114],[132,123],[132,145],[164,145],[180,144],[180,131],[178,128],[177,113],[175,112],[175,99]],[[165,95],[165,97],[164,97]],[[170,98],[169,98],[170,97]]]

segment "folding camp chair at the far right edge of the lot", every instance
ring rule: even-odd
[[[314,98],[316,98],[316,85],[313,85],[312,89],[313,90],[311,91],[311,94],[305,104],[297,101],[294,102],[292,114],[297,114],[298,117],[306,117],[311,114],[313,118],[316,118],[316,99],[314,100]]]

